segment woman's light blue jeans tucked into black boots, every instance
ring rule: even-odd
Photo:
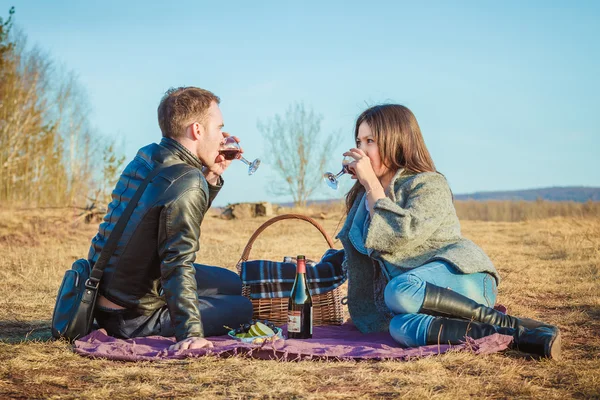
[[[404,347],[423,346],[434,317],[418,314],[425,299],[425,285],[452,289],[476,302],[493,307],[496,279],[485,272],[463,274],[445,261],[433,261],[392,279],[385,287],[384,300],[397,314],[390,322],[390,334]]]

